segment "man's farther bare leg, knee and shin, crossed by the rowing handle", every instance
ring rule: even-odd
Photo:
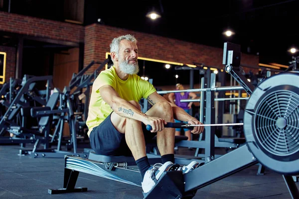
[[[172,108],[168,102],[155,103],[146,114],[160,117],[166,122],[174,122]],[[161,156],[174,153],[174,131],[174,128],[164,128],[157,132],[157,146]]]

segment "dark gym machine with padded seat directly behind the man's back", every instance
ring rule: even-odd
[[[58,109],[47,109],[44,107],[44,110],[31,110],[34,117],[58,117],[58,122],[55,127],[55,131],[52,135],[51,143],[54,142],[54,139],[57,138],[57,148],[46,147],[44,149],[38,149],[40,142],[36,142],[34,144],[34,148],[32,151],[28,150],[20,150],[20,154],[29,154],[34,158],[63,158],[65,155],[73,155],[76,157],[87,158],[89,155],[89,151],[84,149],[83,152],[78,152],[77,150],[77,136],[76,136],[76,122],[78,122],[78,117],[84,115],[87,117],[88,110],[88,102],[89,102],[89,92],[90,86],[92,85],[91,81],[96,78],[96,75],[101,71],[101,69],[110,61],[110,59],[106,59],[103,63],[98,63],[92,61],[87,67],[82,69],[78,74],[73,75],[72,80],[69,83],[69,86],[65,86],[63,92],[60,92],[59,89],[59,107]],[[88,71],[94,64],[100,64],[93,74],[86,75],[85,72]],[[86,96],[85,104],[84,104],[84,112],[75,112],[73,109],[72,103],[76,100],[75,95],[78,93],[82,93],[82,89],[86,88],[84,94]],[[73,90],[73,91],[72,91]],[[72,92],[71,92],[72,91]],[[59,115],[56,115],[59,114]],[[33,117],[33,115],[31,115]],[[69,142],[65,145],[66,149],[70,149],[72,151],[64,151],[61,149],[62,140],[63,140],[63,129],[64,123],[67,121],[69,124],[70,130],[70,139]],[[80,123],[80,122],[79,122]],[[81,122],[85,124],[85,121]],[[80,124],[79,124],[80,125]],[[89,143],[88,143],[89,145]]]

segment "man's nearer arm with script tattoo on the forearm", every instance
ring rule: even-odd
[[[122,99],[112,86],[104,85],[99,89],[99,91],[103,100],[110,105],[115,113],[122,117],[135,119],[145,123],[146,125],[151,125],[151,132],[163,130],[164,124],[167,123],[162,118],[146,115],[127,100]]]

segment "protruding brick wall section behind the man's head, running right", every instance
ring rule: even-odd
[[[134,34],[138,40],[139,56],[184,64],[204,63],[206,66],[223,68],[223,49],[194,44],[148,33],[92,24],[85,28],[85,60],[104,61],[105,53],[110,52],[109,44],[114,37]],[[242,53],[241,65],[258,68],[259,56]]]

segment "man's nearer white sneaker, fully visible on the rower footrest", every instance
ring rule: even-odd
[[[172,162],[165,162],[163,165],[161,163],[156,163],[153,167],[149,167],[145,174],[143,182],[141,183],[144,193],[148,193],[158,182],[161,175],[168,171],[168,169],[173,165]]]

